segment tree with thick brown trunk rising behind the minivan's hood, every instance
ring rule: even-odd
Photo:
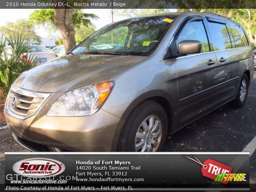
[[[53,0],[54,3],[58,3],[58,0]],[[68,2],[68,0],[64,0]],[[75,41],[75,27],[80,28],[81,23],[84,26],[91,24],[90,19],[98,18],[94,14],[86,14],[82,12],[82,9],[41,9],[35,10],[30,15],[30,20],[34,24],[43,24],[50,26],[51,29],[60,31],[62,35],[65,51],[68,52],[74,46]]]

